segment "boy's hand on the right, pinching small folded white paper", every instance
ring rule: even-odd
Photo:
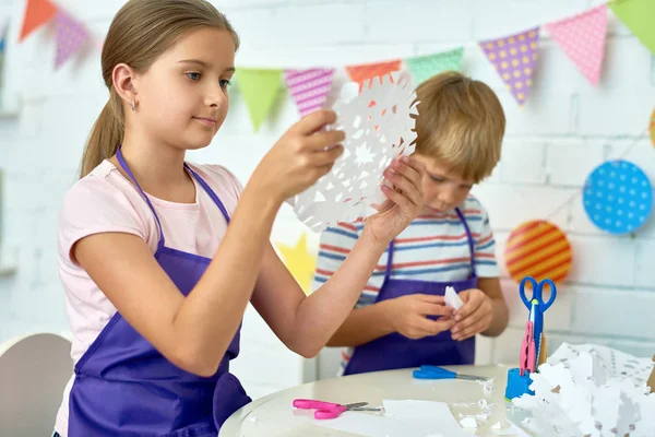
[[[458,294],[464,306],[455,312],[455,324],[451,332],[453,340],[462,341],[489,328],[493,318],[493,305],[481,290],[471,288]]]

